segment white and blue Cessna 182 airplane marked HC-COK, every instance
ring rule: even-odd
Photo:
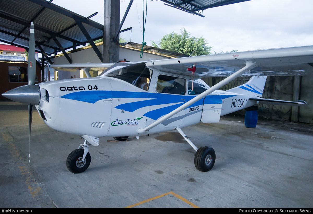
[[[51,65],[60,70],[84,69],[87,77],[90,77],[90,70],[104,71],[94,78],[39,84],[34,84],[34,57],[32,23],[28,85],[2,95],[28,104],[29,141],[33,105],[49,127],[85,139],[84,144],[72,151],[66,160],[67,168],[73,173],[88,168],[91,160],[89,145],[99,145],[99,137],[112,136],[123,141],[127,136],[139,138],[171,130],[177,130],[196,151],[196,168],[209,171],[215,163],[215,151],[209,146],[198,149],[181,128],[200,122],[217,123],[220,116],[258,102],[307,106],[301,100],[290,102],[260,97],[268,75],[313,74],[313,46],[144,62]],[[217,90],[240,75],[252,78],[236,88]],[[227,78],[210,88],[200,79],[204,76]],[[88,111],[77,117],[81,109]]]

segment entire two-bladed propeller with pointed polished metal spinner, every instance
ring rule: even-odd
[[[32,127],[33,106],[40,102],[40,88],[35,85],[36,78],[36,59],[35,59],[35,32],[34,23],[30,24],[29,49],[28,49],[28,85],[9,90],[2,96],[13,101],[28,105],[28,123],[29,123],[29,162],[30,162],[30,131]]]

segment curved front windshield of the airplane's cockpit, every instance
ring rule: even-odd
[[[116,63],[99,76],[121,79],[147,91],[152,76],[152,70],[146,67],[146,62]]]

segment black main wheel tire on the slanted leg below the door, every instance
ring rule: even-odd
[[[210,171],[215,163],[215,151],[210,146],[201,146],[195,155],[195,166],[202,172]]]

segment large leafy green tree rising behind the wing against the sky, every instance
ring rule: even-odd
[[[151,41],[152,46],[156,48],[162,48],[169,51],[174,51],[177,53],[183,53],[186,55],[200,56],[212,54],[212,46],[208,46],[207,40],[201,36],[200,38],[191,36],[185,28],[180,30],[178,33],[169,33],[164,35],[156,44],[154,41]]]

